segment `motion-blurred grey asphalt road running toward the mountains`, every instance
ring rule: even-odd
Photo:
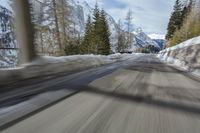
[[[153,55],[66,78],[45,84],[78,93],[1,132],[200,133],[200,80]]]

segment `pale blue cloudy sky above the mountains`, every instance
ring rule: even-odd
[[[94,4],[96,0],[86,0]],[[167,23],[175,0],[97,0],[114,19],[124,19],[133,11],[133,23],[147,34],[166,34]]]

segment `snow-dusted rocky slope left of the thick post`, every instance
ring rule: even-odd
[[[16,66],[17,53],[12,12],[0,6],[0,68]]]

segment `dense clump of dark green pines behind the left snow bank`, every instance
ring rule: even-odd
[[[81,44],[82,54],[110,54],[110,31],[104,10],[95,5],[93,21],[88,17],[85,36]]]

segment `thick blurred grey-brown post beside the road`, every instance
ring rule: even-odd
[[[34,28],[28,0],[14,0],[17,42],[20,47],[20,64],[28,63],[35,57]]]

